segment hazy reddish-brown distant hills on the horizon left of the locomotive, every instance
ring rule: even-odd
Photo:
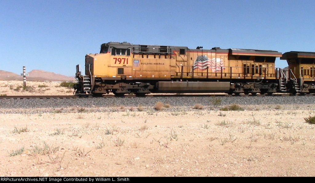
[[[31,70],[26,76],[28,81],[76,81],[74,77],[69,77],[61,74],[55,74],[44,70]],[[23,76],[0,70],[0,80],[23,80]]]

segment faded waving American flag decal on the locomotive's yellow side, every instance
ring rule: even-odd
[[[211,69],[212,72],[221,72],[221,68],[225,69],[223,61],[221,58],[208,58],[207,55],[197,56],[194,62],[194,70],[206,70],[207,67]]]

